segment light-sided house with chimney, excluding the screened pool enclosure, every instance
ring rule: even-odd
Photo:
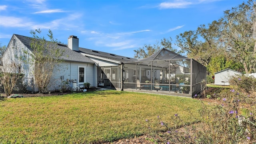
[[[8,66],[8,64],[18,65],[20,72],[24,74],[28,89],[37,92],[38,89],[33,83],[33,65],[20,60],[21,56],[31,57],[30,54],[33,53],[30,47],[32,39],[27,36],[13,34],[1,62],[2,66]],[[98,86],[100,84],[100,86],[106,88],[116,89],[118,87],[112,86],[109,79],[111,77],[113,82],[117,82],[117,73],[118,70],[120,71],[120,66],[118,69],[118,65],[136,60],[125,56],[80,48],[79,39],[76,36],[69,36],[67,41],[67,45],[57,44],[56,46],[56,48],[64,52],[60,57],[64,61],[59,64],[58,72],[52,76],[49,90],[59,90],[63,81],[68,82],[71,88],[77,85],[81,86],[84,82],[90,82],[90,86]],[[114,68],[115,66],[116,68]]]

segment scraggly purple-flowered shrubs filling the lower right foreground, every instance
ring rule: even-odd
[[[202,101],[199,110],[200,118],[196,119],[190,113],[191,119],[196,119],[194,121],[198,122],[197,124],[181,125],[183,120],[179,114],[172,116],[172,124],[165,123],[160,117],[156,118],[158,122],[152,123],[165,128],[164,131],[166,131],[158,134],[161,142],[167,144],[255,143],[256,97],[244,95],[237,89],[226,88],[216,95],[218,95],[217,104]]]

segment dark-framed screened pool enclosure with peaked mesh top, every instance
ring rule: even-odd
[[[206,67],[196,60],[162,49],[122,66],[124,91],[192,97],[206,86]]]

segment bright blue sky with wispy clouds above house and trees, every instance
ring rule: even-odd
[[[32,36],[40,28],[47,37],[67,44],[134,57],[144,44],[156,44],[223,16],[243,0],[0,0],[0,43],[12,34]],[[175,45],[174,48],[177,48]]]

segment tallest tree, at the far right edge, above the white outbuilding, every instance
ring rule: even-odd
[[[230,57],[239,60],[244,66],[244,72],[256,72],[256,48],[253,36],[253,26],[256,14],[252,0],[243,2],[238,7],[226,10],[222,23],[220,41],[226,47]]]

